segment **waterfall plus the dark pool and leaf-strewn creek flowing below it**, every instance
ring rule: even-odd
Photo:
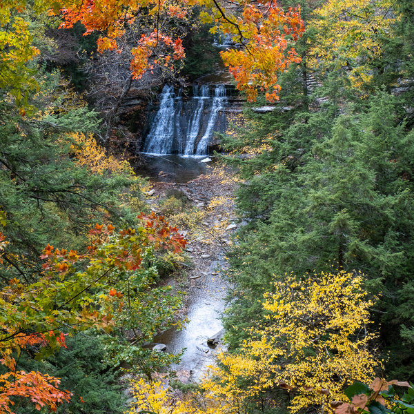
[[[226,267],[226,245],[237,227],[232,224],[234,183],[218,177],[207,157],[214,132],[224,131],[227,125],[226,91],[222,84],[199,85],[193,87],[192,97],[184,99],[181,90],[164,86],[143,146],[147,161],[143,172],[153,184],[154,208],[168,190],[175,189],[203,217],[197,234],[184,229],[188,230],[186,250],[193,262],[187,271],[188,322],[181,331],[171,328],[154,339],[166,345],[168,353],[182,352],[181,362],[171,368],[184,382],[200,379],[214,361],[215,344],[209,345],[208,339],[218,336],[219,342],[224,333],[221,314],[228,285],[220,270]],[[217,198],[224,202],[211,208],[210,202]]]

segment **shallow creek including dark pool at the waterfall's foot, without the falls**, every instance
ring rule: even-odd
[[[175,164],[171,164],[170,161],[179,163],[180,168],[184,170],[178,174],[175,170],[176,174],[172,175],[172,170],[168,167]],[[198,380],[204,368],[213,362],[214,354],[217,352],[215,346],[208,346],[207,340],[216,336],[223,328],[221,314],[225,308],[228,282],[221,272],[227,266],[224,257],[226,248],[231,244],[231,235],[237,228],[234,224],[233,208],[235,183],[223,180],[223,176],[217,176],[217,170],[210,165],[212,163],[200,163],[200,159],[168,157],[167,160],[160,158],[156,162],[158,169],[162,168],[163,174],[159,175],[157,168],[152,167],[154,172],[151,180],[155,190],[151,197],[153,206],[157,206],[157,202],[164,197],[166,191],[175,188],[186,194],[190,203],[203,213],[196,234],[190,230],[186,235],[187,254],[193,262],[193,266],[186,272],[188,294],[184,311],[188,323],[181,331],[172,328],[157,335],[154,340],[158,344],[165,344],[166,352],[175,355],[185,348],[181,362],[172,366],[172,369],[184,382]],[[164,182],[160,182],[161,179]],[[171,182],[172,180],[174,181]],[[217,198],[224,199],[224,202],[211,208],[210,201]],[[221,338],[223,332],[220,334]]]

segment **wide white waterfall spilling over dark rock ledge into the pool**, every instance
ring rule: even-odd
[[[193,97],[185,101],[172,86],[164,86],[160,105],[144,144],[144,153],[182,157],[207,155],[208,144],[226,106],[226,88],[215,87],[210,97],[207,85],[195,86]]]

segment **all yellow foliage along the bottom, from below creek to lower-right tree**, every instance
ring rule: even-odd
[[[264,295],[266,322],[249,331],[239,351],[220,353],[197,391],[177,401],[161,382],[139,380],[130,412],[249,412],[277,386],[293,394],[290,411],[324,412],[355,380],[370,380],[377,366],[369,347],[373,302],[362,282],[362,275],[344,271],[278,277]]]

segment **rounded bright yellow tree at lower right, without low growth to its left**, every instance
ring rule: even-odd
[[[368,346],[375,337],[369,326],[373,301],[362,283],[362,275],[344,271],[302,280],[290,275],[265,296],[270,323],[255,331],[259,338],[249,345],[250,353],[268,361],[279,383],[298,387],[293,411],[323,405],[326,389],[337,399],[354,380],[373,376],[377,362]]]

